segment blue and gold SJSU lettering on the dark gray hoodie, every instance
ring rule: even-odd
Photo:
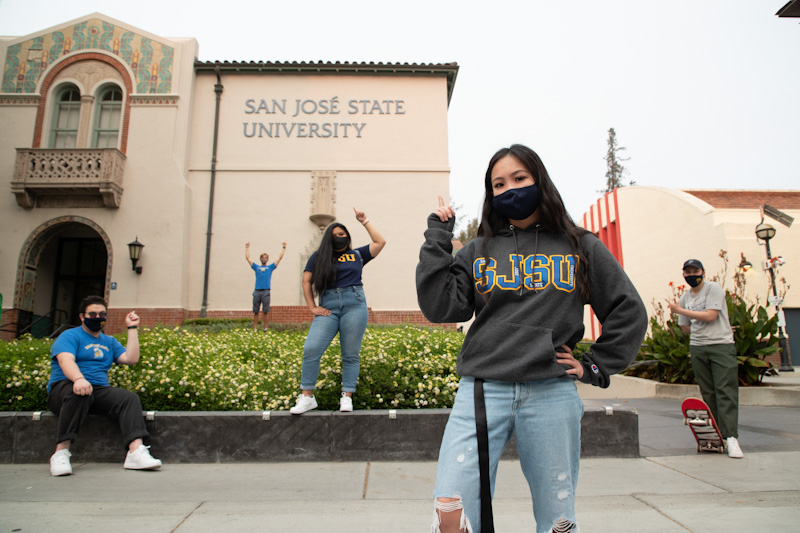
[[[472,277],[475,289],[480,293],[491,292],[497,287],[502,291],[545,289],[553,285],[564,292],[575,290],[575,255],[522,255],[509,254],[511,276],[497,273],[497,261],[493,257],[479,257],[472,264]]]

